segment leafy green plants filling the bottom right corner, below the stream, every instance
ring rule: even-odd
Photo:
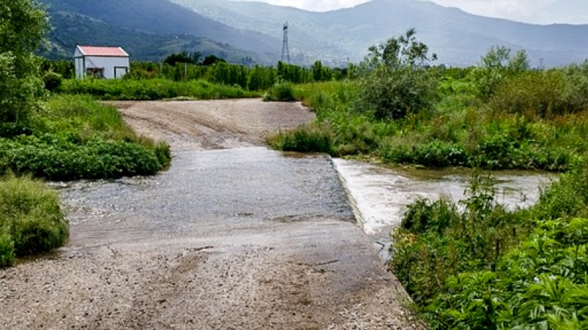
[[[430,328],[585,328],[587,177],[564,174],[524,210],[496,204],[479,177],[460,207],[409,206],[390,268]]]

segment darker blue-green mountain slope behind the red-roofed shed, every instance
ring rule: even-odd
[[[63,57],[76,43],[121,45],[132,58],[159,60],[171,52],[199,50],[229,58],[275,58],[281,42],[235,29],[167,0],[42,0],[54,32],[49,56]],[[273,50],[273,54],[272,54]]]

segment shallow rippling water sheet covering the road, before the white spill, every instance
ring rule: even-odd
[[[74,246],[210,237],[312,218],[353,221],[328,156],[263,147],[183,151],[155,177],[58,187]]]

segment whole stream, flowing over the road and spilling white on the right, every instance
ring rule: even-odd
[[[533,204],[539,187],[552,180],[529,172],[492,177],[497,199],[511,208]],[[208,237],[335,217],[357,221],[385,259],[390,231],[407,204],[442,196],[462,200],[470,179],[467,170],[403,170],[250,147],[183,151],[155,177],[58,187],[74,228],[73,245]]]

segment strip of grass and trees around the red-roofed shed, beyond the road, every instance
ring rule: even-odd
[[[311,68],[283,62],[276,66],[246,66],[227,63],[216,56],[201,60],[199,53],[172,54],[161,63],[131,62],[131,71],[122,80],[75,79],[71,61],[45,60],[42,68],[45,86],[52,92],[91,95],[101,100],[261,97],[266,90],[284,83],[342,80],[350,72],[331,69],[320,61]]]

